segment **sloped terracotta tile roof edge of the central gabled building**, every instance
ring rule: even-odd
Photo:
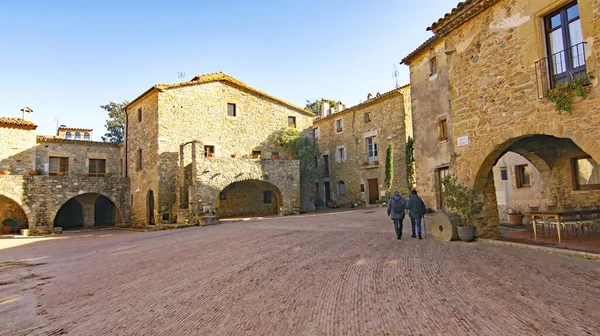
[[[273,97],[265,92],[257,90],[257,89],[255,89],[251,86],[248,86],[223,72],[214,72],[211,74],[199,75],[199,76],[192,78],[188,82],[181,82],[181,83],[176,83],[176,84],[156,84],[153,87],[151,87],[150,89],[148,89],[146,92],[142,93],[139,97],[137,97],[133,101],[131,101],[131,103],[127,104],[127,106],[125,108],[128,108],[129,106],[133,105],[136,101],[138,101],[139,99],[141,99],[142,97],[144,97],[145,95],[147,95],[148,93],[150,93],[154,90],[163,91],[163,90],[168,90],[168,89],[173,89],[173,88],[178,88],[178,87],[183,87],[183,86],[198,85],[198,84],[205,84],[205,83],[211,83],[211,82],[225,82],[227,84],[238,87],[240,89],[250,91],[250,92],[252,92],[258,96],[261,96],[263,98],[266,98],[266,99],[275,101],[277,103],[280,103],[282,105],[285,105],[291,109],[297,110],[298,112],[308,114],[310,116],[314,116],[314,113],[312,111],[301,108],[294,104],[288,103],[285,100]]]

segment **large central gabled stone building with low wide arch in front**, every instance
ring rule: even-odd
[[[223,73],[154,85],[126,109],[133,225],[299,211],[299,163],[274,140],[310,132],[312,112]]]

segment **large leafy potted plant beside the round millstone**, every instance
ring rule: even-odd
[[[461,219],[457,227],[458,238],[465,242],[475,240],[475,226],[473,225],[473,214],[481,211],[481,204],[476,202],[479,193],[460,182],[454,175],[448,175],[442,179],[444,188],[444,207],[454,211]]]

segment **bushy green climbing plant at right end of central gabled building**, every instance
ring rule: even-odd
[[[318,179],[321,171],[315,167],[319,147],[312,138],[302,136],[295,128],[284,128],[275,137],[275,144],[290,151],[292,157],[300,160],[300,178]]]

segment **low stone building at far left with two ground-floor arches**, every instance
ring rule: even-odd
[[[37,136],[33,111],[22,112],[0,118],[0,224],[32,234],[126,225],[122,144]]]

